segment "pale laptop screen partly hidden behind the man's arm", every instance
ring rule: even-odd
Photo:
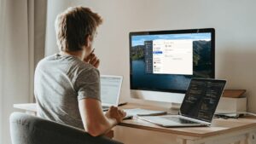
[[[121,76],[101,76],[101,99],[103,105],[118,105],[121,84]]]

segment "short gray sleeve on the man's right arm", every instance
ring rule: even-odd
[[[79,72],[75,87],[78,91],[78,101],[85,98],[101,101],[100,73],[96,68],[92,67]]]

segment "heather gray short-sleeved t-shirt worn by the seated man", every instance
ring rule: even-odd
[[[40,60],[34,93],[38,116],[84,130],[79,100],[100,98],[100,74],[72,55],[50,55]]]

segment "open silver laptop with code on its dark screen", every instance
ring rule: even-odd
[[[192,78],[178,115],[138,117],[163,127],[211,125],[225,80]]]

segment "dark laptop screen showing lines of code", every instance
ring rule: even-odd
[[[212,122],[225,80],[192,78],[180,112],[183,116]]]

